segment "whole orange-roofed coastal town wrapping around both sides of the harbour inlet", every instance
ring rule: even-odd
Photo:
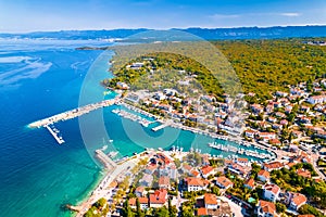
[[[126,69],[153,73],[149,64],[153,60],[131,63]],[[183,77],[177,77],[175,88],[139,90],[121,80],[110,88],[122,93],[125,104],[165,123],[213,138],[231,136],[274,151],[277,158],[263,163],[175,148],[147,150],[133,157],[136,166],[121,173],[108,186],[106,196],[85,216],[325,215],[326,79],[288,86],[288,91],[261,100],[252,92],[185,94],[179,87],[193,84],[196,75],[184,69],[178,75]]]

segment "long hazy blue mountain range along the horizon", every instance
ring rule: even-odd
[[[151,29],[112,29],[112,30],[61,30],[36,31],[28,34],[0,34],[0,38],[30,38],[30,39],[68,39],[91,40],[126,38],[131,35]],[[274,26],[274,27],[239,27],[239,28],[174,28],[193,34],[203,39],[272,39],[293,37],[326,37],[326,26]]]

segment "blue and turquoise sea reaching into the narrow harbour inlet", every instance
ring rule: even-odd
[[[148,148],[172,146],[230,155],[209,148],[214,140],[206,136],[170,127],[154,132],[151,127],[156,123],[143,127],[122,118],[112,113],[124,108],[120,105],[54,124],[65,140],[61,145],[47,129],[27,127],[79,105],[114,98],[114,92],[100,85],[113,76],[109,68],[114,52],[76,50],[112,44],[99,40],[0,39],[1,216],[72,216],[65,205],[83,202],[104,175],[95,157],[97,149],[114,154],[116,159]]]

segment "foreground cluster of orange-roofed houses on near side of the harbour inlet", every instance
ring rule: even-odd
[[[281,162],[250,163],[198,152],[137,154],[85,216],[323,216],[325,181],[299,151]],[[120,166],[117,166],[120,167]],[[96,194],[95,194],[96,195]]]

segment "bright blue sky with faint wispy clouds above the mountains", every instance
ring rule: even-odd
[[[0,0],[0,33],[325,24],[326,0]]]

